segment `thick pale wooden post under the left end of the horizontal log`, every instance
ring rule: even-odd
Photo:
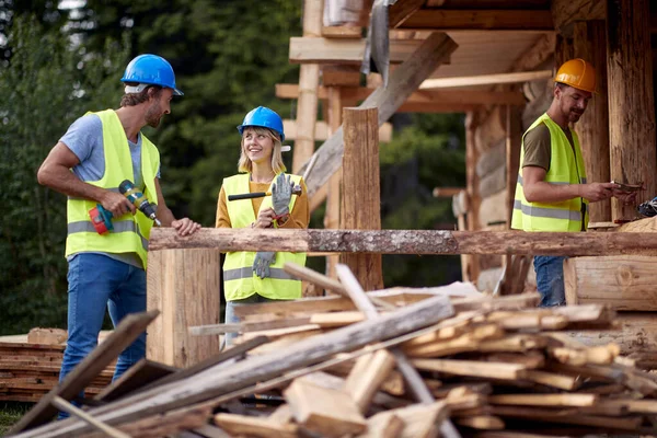
[[[219,336],[189,336],[187,328],[219,323],[220,272],[215,249],[149,252],[148,309],[161,315],[148,331],[148,359],[186,368],[219,353]]]

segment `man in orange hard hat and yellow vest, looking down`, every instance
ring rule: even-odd
[[[564,62],[554,78],[554,99],[522,136],[511,228],[525,231],[586,231],[588,204],[634,195],[613,183],[588,183],[577,134],[596,91],[596,71],[584,59]],[[565,306],[565,256],[534,256],[540,307]]]

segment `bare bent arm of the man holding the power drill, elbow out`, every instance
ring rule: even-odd
[[[114,217],[136,211],[135,206],[122,194],[88,184],[76,176],[70,170],[79,163],[78,157],[59,141],[38,169],[38,183],[67,196],[95,200]]]

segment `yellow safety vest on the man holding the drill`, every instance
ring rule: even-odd
[[[114,110],[96,114],[103,124],[103,150],[105,154],[105,173],[99,181],[87,183],[118,193],[118,185],[124,180],[134,180],[132,159],[126,132]],[[141,135],[141,173],[146,184],[145,195],[151,201],[157,201],[155,175],[160,168],[160,152],[148,138]],[[137,253],[143,268],[148,251],[148,239],[152,221],[141,212],[126,214],[113,218],[114,230],[103,235],[93,228],[89,210],[96,201],[81,198],[68,198],[68,237],[66,239],[66,256],[85,252],[99,251],[105,253]]]

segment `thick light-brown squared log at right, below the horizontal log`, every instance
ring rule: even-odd
[[[564,263],[568,304],[600,303],[615,310],[657,310],[657,258],[613,255]]]

